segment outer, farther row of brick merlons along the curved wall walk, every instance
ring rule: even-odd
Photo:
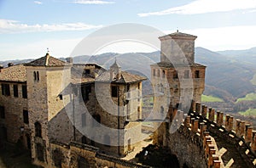
[[[210,137],[205,135],[206,131],[224,143],[232,144],[248,167],[255,166],[256,131],[253,131],[253,126],[249,122],[235,119],[228,114],[224,115],[223,112],[208,108],[204,104],[192,102],[191,107],[189,115],[184,119],[184,126],[191,129],[191,132],[200,132],[201,135],[204,135],[203,146],[206,154],[209,154],[208,165],[214,163],[214,161],[209,163],[209,160],[214,158],[214,152],[212,151],[210,154],[209,148],[212,147],[209,146],[211,144]]]

